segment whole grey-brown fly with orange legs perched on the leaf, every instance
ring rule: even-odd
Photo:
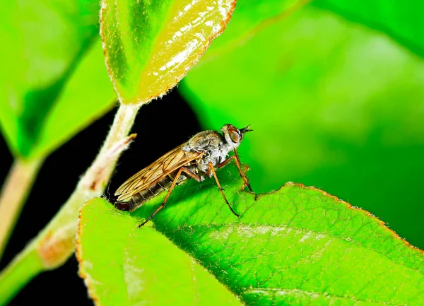
[[[201,131],[186,143],[182,143],[181,146],[177,146],[148,167],[137,172],[117,189],[114,195],[118,198],[114,206],[122,211],[134,211],[149,199],[167,190],[167,195],[162,204],[147,220],[139,225],[141,227],[151,220],[160,209],[165,207],[175,184],[189,178],[201,182],[206,177],[213,176],[225,203],[235,216],[240,216],[232,209],[227,198],[225,198],[216,176],[215,167],[219,169],[231,160],[235,160],[245,186],[252,191],[249,180],[240,168],[240,159],[236,151],[245,133],[252,130],[249,129],[249,126],[237,129],[231,124],[225,124],[220,131],[222,134],[217,131]],[[234,155],[227,158],[230,151],[234,151]]]

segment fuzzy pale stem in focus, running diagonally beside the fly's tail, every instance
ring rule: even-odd
[[[38,273],[57,268],[73,254],[79,209],[105,189],[119,155],[135,137],[127,135],[138,110],[138,106],[119,106],[105,143],[73,194],[37,237],[0,273],[0,305],[11,300]]]

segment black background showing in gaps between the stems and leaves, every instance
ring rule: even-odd
[[[45,160],[0,261],[0,270],[45,227],[68,199],[76,187],[78,177],[98,153],[116,110],[114,108],[105,114]],[[132,129],[138,136],[119,159],[110,183],[110,194],[135,172],[200,130],[194,112],[177,90],[141,107]],[[13,157],[1,135],[0,160],[2,184]],[[59,269],[35,277],[9,305],[58,305],[63,301],[70,305],[93,305],[83,280],[78,276],[75,255]]]

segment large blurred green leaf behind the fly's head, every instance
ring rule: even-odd
[[[314,6],[276,15],[283,5],[262,1],[273,15],[255,26],[238,5],[179,86],[205,128],[252,124],[240,158],[255,190],[323,188],[423,248],[423,60]]]

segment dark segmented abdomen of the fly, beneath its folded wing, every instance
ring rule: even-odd
[[[184,177],[184,175],[180,175],[177,184],[179,182],[182,182],[183,180],[187,180],[187,177]],[[151,185],[146,189],[141,190],[141,192],[134,193],[131,198],[125,201],[117,201],[114,206],[121,211],[134,211],[136,208],[139,208],[148,200],[153,199],[160,193],[165,192],[167,189],[170,189],[172,181],[173,176],[168,175],[159,182]]]

